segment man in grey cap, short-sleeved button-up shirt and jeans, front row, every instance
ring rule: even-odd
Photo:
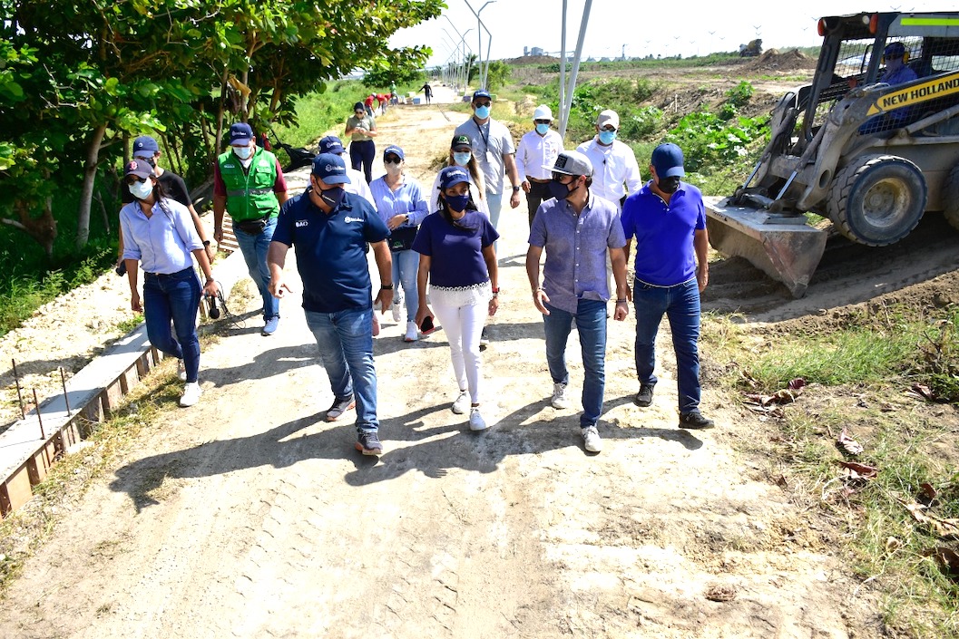
[[[552,377],[552,407],[569,408],[566,343],[576,322],[583,358],[583,414],[579,418],[583,444],[602,450],[596,424],[602,415],[606,384],[606,305],[609,302],[607,257],[616,278],[616,312],[629,313],[626,299],[626,256],[616,207],[591,193],[593,165],[578,151],[563,151],[551,167],[549,199],[540,205],[529,230],[526,275],[533,306],[543,313],[546,359]],[[546,251],[543,282],[540,257]]]

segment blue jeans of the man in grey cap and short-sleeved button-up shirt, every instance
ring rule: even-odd
[[[598,300],[579,300],[575,314],[546,305],[549,315],[543,315],[546,331],[546,361],[553,383],[570,383],[566,369],[566,342],[576,320],[579,348],[583,355],[583,414],[582,428],[595,426],[602,415],[602,396],[606,386],[606,303]]]

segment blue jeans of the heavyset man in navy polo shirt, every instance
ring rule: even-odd
[[[375,433],[376,370],[373,368],[373,309],[335,313],[306,311],[306,325],[316,337],[319,358],[337,399],[357,400],[357,431]]]

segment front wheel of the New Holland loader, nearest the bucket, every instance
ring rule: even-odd
[[[927,196],[923,171],[912,162],[896,155],[864,155],[836,175],[827,210],[850,240],[886,246],[916,228]]]

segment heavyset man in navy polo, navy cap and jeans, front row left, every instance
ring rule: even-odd
[[[290,292],[284,281],[287,251],[296,248],[296,269],[303,281],[306,323],[316,337],[320,360],[336,399],[326,412],[335,422],[357,409],[357,449],[380,455],[383,445],[376,416],[376,370],[373,367],[373,306],[366,243],[380,271],[376,304],[393,299],[389,230],[363,197],[343,191],[349,183],[339,155],[320,153],[313,161],[310,186],[284,206],[269,244],[270,292]]]

